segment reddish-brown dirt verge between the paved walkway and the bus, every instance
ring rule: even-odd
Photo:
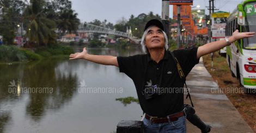
[[[211,56],[203,56],[204,65],[210,72],[215,81],[217,81],[221,90],[227,95],[231,103],[240,112],[243,119],[256,132],[256,95],[245,94],[239,85],[239,81],[231,76],[229,66],[225,57],[221,57],[217,52],[214,53],[214,68],[211,68]],[[228,91],[227,88],[236,88],[236,91]]]

